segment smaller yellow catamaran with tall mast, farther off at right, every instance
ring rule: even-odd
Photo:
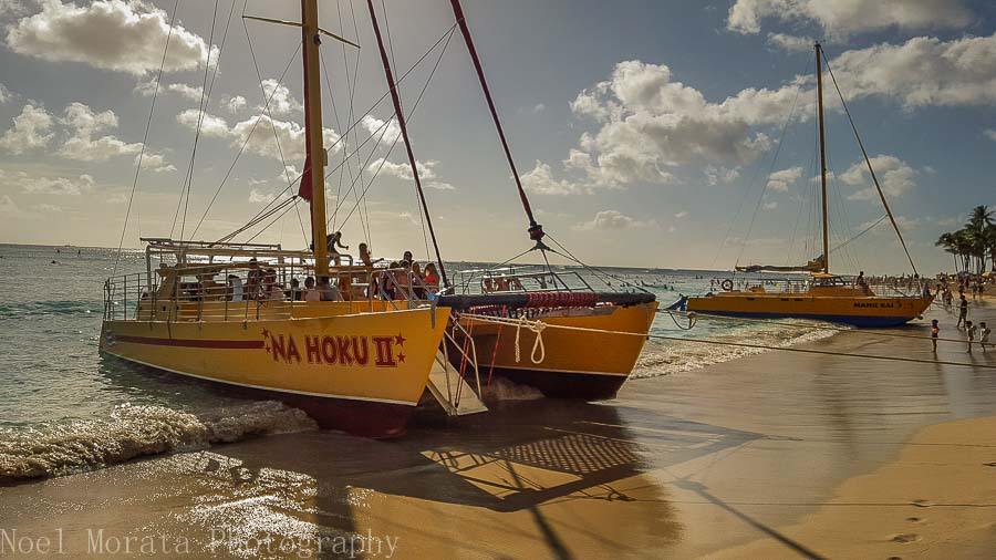
[[[855,326],[895,326],[906,323],[921,314],[930,307],[933,298],[924,290],[913,295],[876,295],[864,283],[863,279],[849,281],[839,276],[830,273],[830,235],[827,212],[827,153],[826,141],[823,135],[823,79],[822,79],[822,48],[819,43],[815,45],[817,58],[817,106],[819,114],[819,133],[820,133],[820,185],[822,195],[822,246],[823,252],[817,259],[801,267],[767,267],[750,266],[737,267],[740,272],[808,272],[810,278],[805,282],[788,282],[788,287],[784,290],[769,291],[764,282],[757,282],[753,286],[750,282],[743,283],[740,289],[734,289],[732,279],[720,280],[719,286],[723,291],[708,293],[703,297],[687,298],[681,302],[687,311],[697,313],[708,313],[729,317],[748,317],[748,318],[800,318],[817,319],[823,321],[839,322]],[[829,69],[829,65],[828,65]],[[831,71],[832,77],[832,71]],[[834,81],[836,84],[836,81]],[[838,90],[838,93],[840,91]],[[841,103],[843,96],[841,95]],[[843,105],[847,111],[847,104]],[[850,120],[850,112],[848,112]],[[851,125],[858,137],[858,144],[864,160],[871,174],[872,182],[885,207],[885,212],[892,221],[892,226],[902,242],[903,250],[906,250],[905,241],[900,232],[899,226],[893,218],[885,195],[879,186],[879,179],[872,168],[868,153],[861,137],[858,136],[858,129],[853,122]],[[906,250],[906,257],[910,252]],[[910,258],[910,265],[913,266],[913,259]],[[916,267],[913,266],[914,272]]]

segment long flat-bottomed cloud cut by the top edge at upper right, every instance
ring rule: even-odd
[[[766,19],[782,23],[815,23],[823,34],[840,40],[850,34],[885,28],[957,29],[972,23],[962,0],[737,0],[726,28],[759,33]]]

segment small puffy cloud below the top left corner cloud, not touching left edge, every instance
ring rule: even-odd
[[[62,145],[59,154],[79,162],[104,162],[115,156],[137,154],[142,143],[128,144],[115,136],[106,135],[96,139],[100,131],[117,127],[117,115],[113,111],[94,113],[89,105],[71,103],[65,107],[60,123],[70,128],[71,136]]]

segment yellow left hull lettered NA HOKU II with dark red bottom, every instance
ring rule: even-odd
[[[403,435],[448,309],[269,321],[104,321],[101,350],[304,409],[322,427]]]

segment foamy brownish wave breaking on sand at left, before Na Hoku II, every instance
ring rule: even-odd
[[[197,415],[164,406],[121,405],[106,419],[0,431],[0,484],[69,475],[253,435],[317,427],[304,412],[274,401]]]

